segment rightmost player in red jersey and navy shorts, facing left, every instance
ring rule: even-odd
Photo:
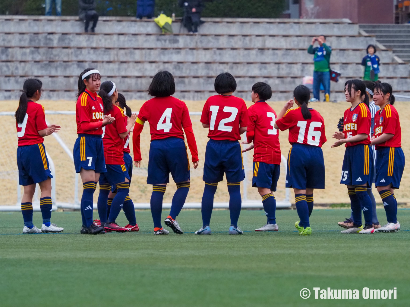
[[[400,187],[405,165],[401,149],[401,127],[399,113],[394,108],[392,86],[378,83],[374,86],[373,100],[380,111],[374,117],[374,137],[371,145],[376,145],[376,188],[383,201],[387,224],[377,228],[376,232],[390,233],[400,229],[397,221],[397,201],[394,189]]]

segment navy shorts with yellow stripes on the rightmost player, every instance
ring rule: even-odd
[[[401,147],[379,147],[376,153],[376,187],[383,187],[391,183],[393,189],[398,189],[405,164],[403,149]]]

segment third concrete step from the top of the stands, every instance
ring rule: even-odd
[[[332,62],[361,62],[363,49],[335,49]],[[394,62],[389,50],[377,52],[382,63]],[[260,59],[269,62],[312,61],[307,48],[65,48],[65,47],[0,47],[0,60],[10,61],[235,61]]]

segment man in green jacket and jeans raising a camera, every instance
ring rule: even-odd
[[[313,47],[318,42],[319,47]],[[326,36],[321,35],[312,39],[312,45],[307,48],[307,53],[314,54],[313,70],[313,97],[320,101],[320,85],[325,90],[325,100],[330,98],[330,54],[332,48],[326,45]]]

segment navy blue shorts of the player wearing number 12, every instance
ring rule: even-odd
[[[224,173],[228,182],[244,180],[241,144],[238,141],[210,139],[206,145],[203,181],[218,183],[223,181]]]

